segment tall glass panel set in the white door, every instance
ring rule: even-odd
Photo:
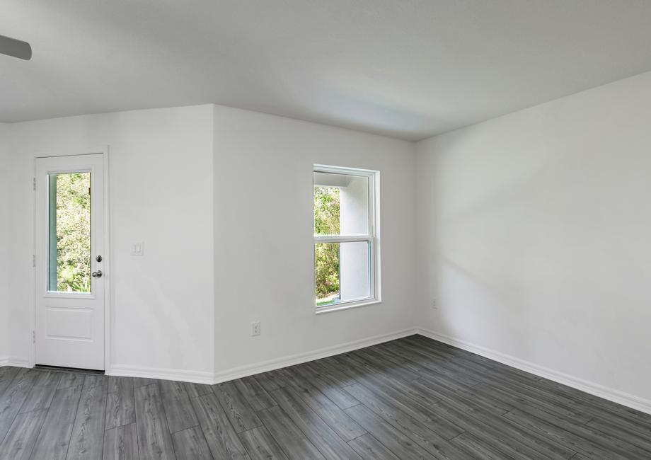
[[[47,290],[91,292],[91,173],[48,176]]]

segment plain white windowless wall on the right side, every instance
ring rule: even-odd
[[[422,326],[651,400],[650,124],[651,73],[417,144]]]

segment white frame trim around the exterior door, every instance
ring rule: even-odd
[[[111,314],[113,311],[113,305],[111,304],[111,292],[112,285],[111,279],[113,273],[111,272],[111,260],[113,259],[113,241],[111,240],[110,233],[110,180],[109,180],[109,148],[108,146],[101,146],[96,149],[88,149],[86,151],[57,151],[56,153],[41,153],[33,154],[32,156],[32,171],[30,171],[29,185],[30,192],[33,197],[30,200],[30,238],[32,241],[32,247],[30,250],[29,258],[32,265],[31,275],[30,275],[30,328],[28,330],[28,340],[31,344],[29,348],[29,357],[28,357],[28,367],[35,366],[35,356],[36,356],[36,343],[34,340],[35,331],[36,331],[36,193],[35,193],[35,178],[36,178],[36,159],[39,158],[49,158],[55,156],[79,156],[79,155],[90,155],[90,154],[102,154],[103,163],[104,163],[104,245],[105,254],[104,260],[102,263],[104,265],[104,372],[108,374],[110,372],[111,364],[111,330],[113,329]]]

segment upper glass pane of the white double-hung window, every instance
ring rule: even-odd
[[[314,173],[314,234],[369,234],[369,178]]]

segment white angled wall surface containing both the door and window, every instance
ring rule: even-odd
[[[210,380],[413,326],[408,142],[213,105],[8,126],[11,173],[0,191],[11,225],[0,225],[0,241],[10,243],[3,336],[14,362],[26,364],[30,349],[33,159],[107,145],[111,372]],[[382,171],[381,304],[314,314],[314,163]],[[129,255],[137,241],[143,257]],[[252,321],[262,321],[260,337]]]

